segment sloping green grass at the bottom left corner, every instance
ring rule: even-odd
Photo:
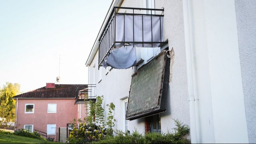
[[[16,136],[7,132],[0,132],[0,144],[60,144],[47,140],[38,140],[24,136]]]

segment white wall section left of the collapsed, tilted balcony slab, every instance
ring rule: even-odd
[[[95,64],[95,67],[93,67]],[[92,64],[89,66],[89,83],[96,84],[96,95],[104,96],[103,108],[106,110],[105,118],[107,117],[107,111],[110,103],[113,103],[116,108],[114,110],[115,129],[124,130],[124,109],[123,99],[129,96],[131,75],[134,73],[134,69],[112,69],[106,75],[106,70],[101,67],[102,73],[98,70],[98,51]],[[95,72],[96,70],[96,72]],[[96,73],[96,82],[94,83],[94,73]],[[102,80],[99,82],[99,75],[102,75]]]

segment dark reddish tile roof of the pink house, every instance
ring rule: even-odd
[[[41,87],[27,93],[22,93],[13,97],[16,98],[34,98],[34,99],[47,99],[47,98],[75,98],[76,89],[85,89],[87,85],[63,85],[55,84],[55,88]]]

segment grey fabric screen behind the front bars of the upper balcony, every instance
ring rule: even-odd
[[[152,18],[152,24],[151,24],[151,18]],[[133,33],[133,26],[134,26],[134,33]],[[134,22],[133,22],[133,16],[117,14],[116,15],[116,47],[123,46],[124,43],[122,42],[124,41],[129,43],[130,45],[134,44],[134,47],[158,47],[160,42],[163,41],[163,17],[134,16]],[[139,42],[149,42],[149,43],[143,44]],[[151,42],[154,42],[154,43],[151,43]],[[159,43],[156,43],[156,42],[159,42]]]

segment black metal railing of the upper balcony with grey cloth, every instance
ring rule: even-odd
[[[121,10],[125,10],[125,12],[118,12]],[[150,9],[150,8],[127,8],[127,7],[114,7],[113,10],[110,13],[110,16],[106,22],[106,25],[102,31],[102,34],[100,35],[98,41],[99,41],[99,59],[98,59],[98,66],[102,66],[103,61],[106,60],[106,58],[108,57],[108,55],[111,53],[111,51],[114,49],[114,47],[116,47],[117,45],[136,45],[136,44],[141,44],[142,47],[144,47],[145,44],[153,44],[154,43],[159,43],[159,44],[163,44],[163,43],[168,43],[166,41],[163,40],[162,37],[162,32],[161,32],[161,26],[163,22],[161,22],[161,18],[164,16],[163,14],[164,9]],[[117,39],[118,37],[116,36],[116,23],[118,23],[116,21],[116,16],[118,15],[123,15],[124,16],[124,37],[123,40],[120,41],[120,39]],[[125,38],[125,16],[132,16],[132,26],[133,26],[133,38],[132,39],[128,39],[126,40]],[[134,39],[134,37],[138,37],[138,36],[134,36],[134,16],[141,16],[142,17],[142,40],[140,41],[136,41],[136,39]],[[146,16],[151,16],[151,41],[146,41],[144,39],[144,24],[143,24],[143,17]],[[159,17],[159,27],[160,27],[160,35],[158,37],[160,37],[160,41],[154,41],[154,37],[153,37],[153,26],[152,26],[152,16],[156,16]],[[144,22],[145,23],[145,22]]]

